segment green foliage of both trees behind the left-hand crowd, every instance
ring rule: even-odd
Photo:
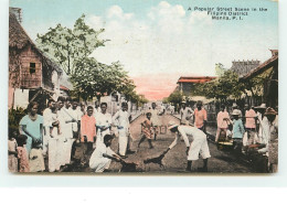
[[[106,65],[89,55],[98,46],[104,46],[107,40],[98,35],[105,30],[95,31],[85,23],[83,14],[76,20],[74,28],[68,29],[57,24],[49,32],[39,35],[36,42],[40,49],[52,55],[67,74],[73,84],[73,95],[84,100],[110,95],[118,92],[128,100],[138,101],[136,85],[128,77],[119,62]]]

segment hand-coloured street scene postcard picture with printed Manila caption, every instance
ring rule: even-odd
[[[277,0],[10,0],[11,173],[270,175]]]

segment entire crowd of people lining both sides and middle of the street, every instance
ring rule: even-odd
[[[102,103],[99,108],[79,104],[71,98],[59,97],[57,101],[50,99],[47,108],[42,115],[38,112],[39,104],[32,101],[19,124],[19,132],[9,132],[9,170],[11,172],[59,172],[71,164],[76,158],[76,146],[83,150],[81,162],[85,162],[93,171],[109,171],[110,161],[126,163],[127,154],[135,153],[130,150],[131,136],[129,131],[131,116],[128,104],[123,103],[121,108],[111,116],[107,112],[107,104]],[[155,148],[152,139],[162,128],[160,116],[166,114],[166,108],[157,108],[156,103],[146,109],[141,122],[140,144],[147,140],[149,148]],[[238,153],[256,147],[258,152],[268,157],[270,171],[277,169],[278,151],[278,114],[275,109],[266,107],[245,106],[242,111],[237,105],[232,106],[231,112],[225,105],[216,117],[215,142],[232,141],[233,148]],[[176,133],[174,140],[166,151],[160,154],[162,159],[180,138],[183,139],[187,150],[187,171],[192,171],[192,162],[203,159],[201,171],[208,171],[208,159],[211,157],[206,133],[208,111],[202,101],[192,109],[182,101],[180,122],[169,121],[168,129]],[[117,129],[118,152],[110,149],[115,137],[111,127]],[[47,160],[47,165],[45,165]]]

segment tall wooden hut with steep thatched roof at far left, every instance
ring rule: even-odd
[[[39,68],[39,72],[36,76],[32,77],[31,75],[33,73],[30,73],[30,75],[23,75],[25,77],[33,78],[35,80],[35,77],[39,77],[39,82],[42,83],[34,83],[33,87],[30,87],[29,85],[24,85],[24,88],[34,88],[35,87],[42,87],[45,86],[47,89],[53,89],[52,87],[52,73],[55,71],[57,75],[62,74],[62,69],[60,66],[51,58],[49,58],[42,51],[40,51],[36,45],[33,43],[33,41],[29,37],[22,25],[18,22],[18,19],[14,13],[9,13],[9,72],[10,74],[13,74],[13,77],[10,77],[10,80],[18,80],[18,82],[10,82],[10,84],[13,84],[13,87],[20,87],[23,86],[21,84],[21,76],[20,76],[20,69],[26,71],[28,61],[31,61],[31,63],[39,64],[39,67],[35,66],[35,68]],[[23,72],[21,72],[23,74]],[[15,76],[19,75],[19,76]],[[29,79],[29,78],[25,78]]]

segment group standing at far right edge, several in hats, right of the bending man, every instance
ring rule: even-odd
[[[259,153],[268,157],[268,171],[274,172],[277,168],[278,151],[278,112],[266,107],[266,104],[251,107],[245,105],[244,114],[234,103],[231,117],[224,105],[217,114],[217,131],[215,142],[220,137],[231,137],[234,150],[246,153],[249,148],[256,148]]]

